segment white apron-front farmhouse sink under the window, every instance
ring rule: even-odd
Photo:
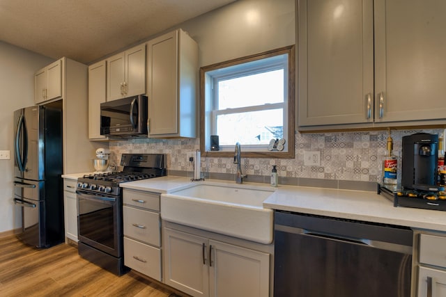
[[[170,222],[256,241],[272,242],[272,209],[263,201],[269,188],[196,184],[161,195],[161,217]]]

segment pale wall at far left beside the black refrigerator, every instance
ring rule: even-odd
[[[13,203],[13,112],[34,105],[34,72],[52,59],[0,41],[0,150],[10,160],[0,160],[0,233],[20,228],[21,217]]]

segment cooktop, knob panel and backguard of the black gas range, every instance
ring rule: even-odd
[[[165,176],[164,154],[122,154],[123,171],[100,172],[77,179],[77,188],[89,193],[121,195],[119,184]]]

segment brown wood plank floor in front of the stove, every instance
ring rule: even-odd
[[[0,296],[177,296],[137,275],[118,277],[62,243],[38,250],[14,235],[0,237]]]

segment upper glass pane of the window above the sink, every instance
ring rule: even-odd
[[[283,69],[218,82],[220,110],[279,102],[284,102]]]

